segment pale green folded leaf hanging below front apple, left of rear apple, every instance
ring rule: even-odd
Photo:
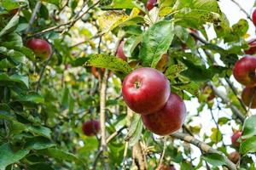
[[[143,132],[143,121],[141,116],[134,114],[131,117],[131,126],[129,127],[129,132],[125,136],[125,140],[129,141],[129,145],[133,146],[140,139]]]

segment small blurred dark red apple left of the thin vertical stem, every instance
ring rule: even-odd
[[[86,136],[93,136],[100,131],[100,122],[97,120],[84,122],[82,130]]]

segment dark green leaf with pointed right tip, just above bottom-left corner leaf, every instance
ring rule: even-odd
[[[49,139],[38,136],[32,139],[27,139],[25,148],[26,150],[43,150],[54,145],[55,144],[52,144]]]

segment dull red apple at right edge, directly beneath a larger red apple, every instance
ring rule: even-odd
[[[241,92],[241,100],[243,103],[249,106],[252,98],[253,102],[251,108],[256,109],[256,88],[244,88]]]

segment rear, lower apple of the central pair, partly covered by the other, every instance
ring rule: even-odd
[[[160,136],[169,135],[182,127],[186,117],[186,106],[177,94],[170,94],[166,105],[150,115],[143,115],[143,124],[147,129]]]

